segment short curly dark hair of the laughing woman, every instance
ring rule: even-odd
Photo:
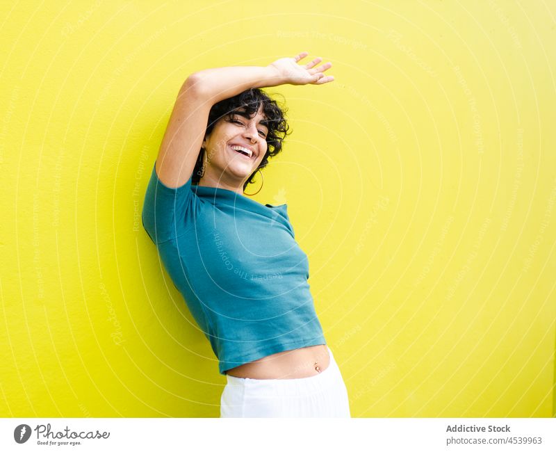
[[[259,111],[261,104],[263,106],[263,115],[265,116],[265,120],[262,120],[261,124],[268,127],[268,134],[266,135],[267,150],[259,167],[252,172],[252,175],[250,175],[247,181],[245,181],[245,184],[243,184],[243,191],[245,191],[248,184],[252,184],[252,179],[256,171],[267,166],[268,159],[276,156],[282,150],[282,142],[288,135],[290,129],[285,116],[287,108],[285,106],[279,106],[277,102],[271,99],[263,90],[259,88],[250,88],[240,92],[234,97],[229,97],[228,99],[217,102],[208,113],[208,125],[205,131],[206,135],[213,131],[218,120],[222,118],[231,120],[232,115],[237,114],[239,108],[245,107],[245,113],[240,112],[239,114],[247,114],[252,118],[252,116]],[[201,152],[199,152],[199,157],[197,157],[197,162],[193,170],[193,177],[191,179],[193,185],[199,183],[199,172],[203,166],[205,152],[206,150],[202,149]]]

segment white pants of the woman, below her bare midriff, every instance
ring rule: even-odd
[[[258,380],[227,375],[220,417],[351,417],[345,383],[328,350],[329,366],[312,377]]]

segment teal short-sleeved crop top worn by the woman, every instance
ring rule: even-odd
[[[287,204],[263,205],[192,185],[191,177],[169,188],[153,166],[142,224],[222,375],[273,353],[326,344]]]

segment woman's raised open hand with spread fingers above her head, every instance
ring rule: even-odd
[[[272,67],[272,69],[277,71],[277,75],[285,80],[283,83],[289,83],[291,85],[307,85],[309,83],[313,85],[322,85],[323,83],[334,80],[334,76],[326,76],[324,74],[325,70],[332,67],[332,63],[325,63],[319,67],[314,67],[317,63],[322,61],[320,57],[315,58],[306,65],[297,64],[307,55],[309,55],[309,52],[304,51],[293,58],[280,58],[274,63],[270,63],[268,67]]]

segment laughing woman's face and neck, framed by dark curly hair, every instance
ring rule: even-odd
[[[227,188],[243,193],[243,184],[263,160],[268,145],[263,107],[253,118],[240,107],[230,117],[220,118],[203,140],[207,163],[200,186]],[[262,122],[262,123],[261,123]],[[238,147],[245,149],[239,150]],[[235,148],[235,149],[234,149]],[[250,154],[247,156],[245,154]]]

